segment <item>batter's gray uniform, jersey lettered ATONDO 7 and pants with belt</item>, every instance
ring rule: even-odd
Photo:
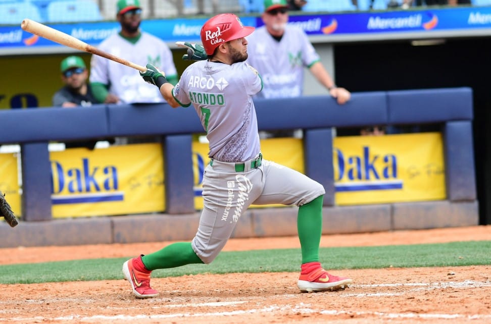
[[[172,90],[182,106],[193,105],[210,142],[204,208],[191,242],[205,263],[219,254],[251,204],[302,206],[325,193],[304,174],[262,159],[252,100],[261,88],[261,78],[247,63],[200,61]]]

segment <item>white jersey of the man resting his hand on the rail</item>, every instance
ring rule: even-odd
[[[264,89],[262,98],[299,97],[303,94],[304,68],[319,61],[319,55],[305,32],[299,27],[286,25],[278,42],[265,26],[256,28],[247,37],[247,62],[258,70]]]

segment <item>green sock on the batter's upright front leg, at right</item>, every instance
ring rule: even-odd
[[[319,244],[322,235],[322,201],[321,195],[311,202],[299,207],[297,228],[302,248],[302,264],[319,261]]]

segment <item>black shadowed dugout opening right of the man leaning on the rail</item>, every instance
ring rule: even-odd
[[[491,31],[490,31],[491,32]],[[411,40],[333,45],[335,79],[351,91],[470,87],[474,102],[474,152],[479,224],[491,224],[491,37],[443,38],[415,46]]]

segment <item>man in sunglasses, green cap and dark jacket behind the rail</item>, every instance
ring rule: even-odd
[[[53,105],[62,107],[90,106],[97,103],[87,84],[88,73],[81,57],[69,56],[60,65],[65,86],[53,95]]]

